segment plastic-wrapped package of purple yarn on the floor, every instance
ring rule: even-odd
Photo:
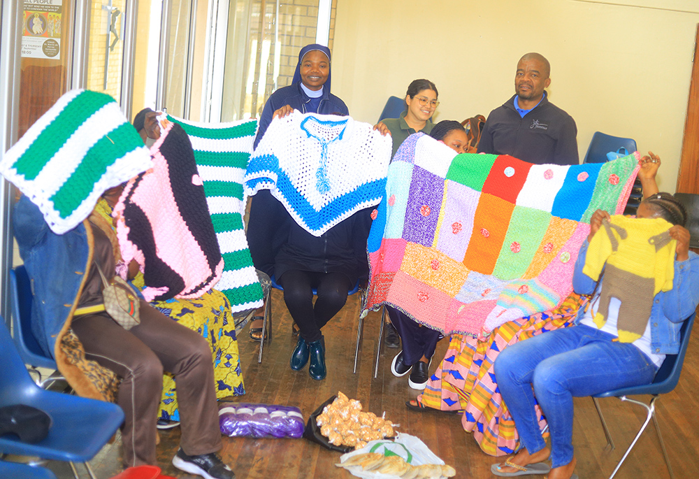
[[[230,437],[300,438],[305,422],[299,408],[277,404],[219,404],[221,433]]]

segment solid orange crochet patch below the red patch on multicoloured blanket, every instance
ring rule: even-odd
[[[481,194],[473,218],[473,233],[463,264],[471,271],[493,274],[503,247],[514,203],[492,194]]]

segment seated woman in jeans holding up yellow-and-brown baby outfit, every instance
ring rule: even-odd
[[[512,345],[495,362],[524,448],[493,465],[493,474],[577,477],[573,396],[651,383],[665,355],[677,354],[682,322],[699,303],[699,256],[689,251],[686,218],[682,203],[668,193],[644,199],[635,218],[593,214],[572,279],[576,292],[592,294],[591,308],[580,311],[575,326]],[[550,452],[534,396],[549,422]],[[549,455],[550,472],[543,463]]]

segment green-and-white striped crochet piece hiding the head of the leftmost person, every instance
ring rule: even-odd
[[[103,192],[152,166],[147,148],[108,94],[61,96],[3,155],[0,173],[64,234],[92,212]]]

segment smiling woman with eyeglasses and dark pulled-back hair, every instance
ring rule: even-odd
[[[391,158],[396,156],[396,151],[405,138],[422,131],[430,134],[432,131],[432,115],[439,106],[437,101],[437,87],[430,80],[421,78],[412,80],[405,93],[405,111],[398,118],[385,118],[378,122],[374,129],[382,134],[390,134],[394,141],[394,150]]]

